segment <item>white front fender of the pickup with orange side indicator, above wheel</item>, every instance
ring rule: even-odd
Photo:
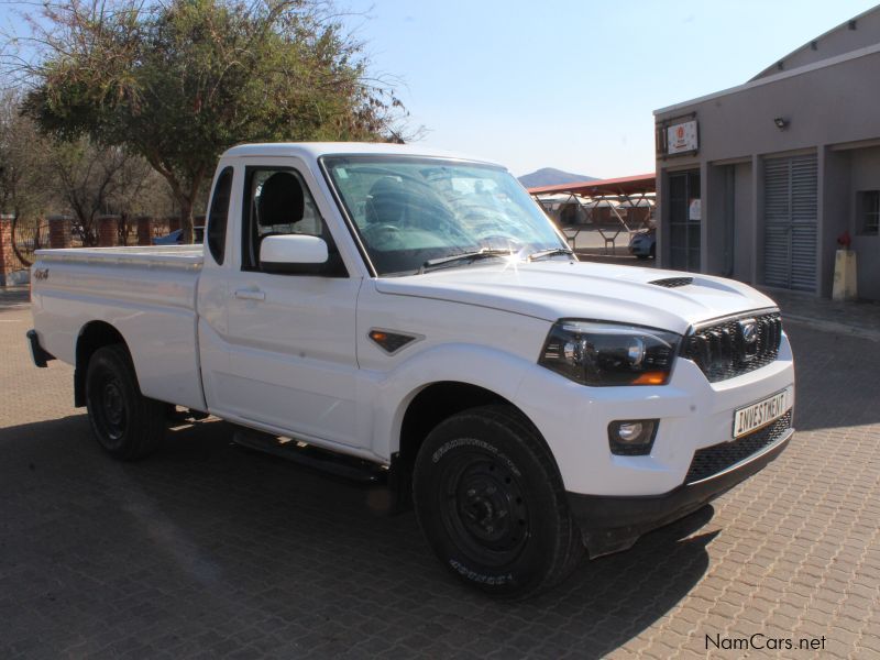
[[[398,449],[407,406],[432,383],[477,385],[514,402],[526,371],[541,369],[538,354],[550,329],[546,320],[496,309],[381,294],[373,280],[361,289],[356,326],[358,427],[384,459]],[[372,329],[416,339],[388,354],[370,339]]]

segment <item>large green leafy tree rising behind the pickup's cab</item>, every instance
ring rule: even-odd
[[[142,155],[189,240],[199,190],[237,143],[399,140],[393,89],[319,0],[63,0],[44,14],[26,112],[56,136]]]

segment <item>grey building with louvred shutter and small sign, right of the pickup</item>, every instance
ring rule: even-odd
[[[880,8],[654,119],[662,266],[829,296],[848,231],[880,300]]]

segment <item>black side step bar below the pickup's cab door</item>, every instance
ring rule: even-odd
[[[338,454],[296,439],[250,429],[237,430],[232,436],[232,442],[363,484],[386,481],[388,473],[388,470],[378,463]]]

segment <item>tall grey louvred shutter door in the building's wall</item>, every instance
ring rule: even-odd
[[[763,283],[816,290],[816,155],[767,158],[763,167]]]

